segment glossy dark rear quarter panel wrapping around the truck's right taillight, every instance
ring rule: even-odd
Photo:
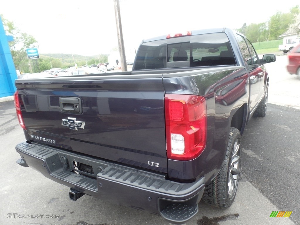
[[[205,150],[190,161],[168,159],[168,175],[172,179],[194,180],[204,174],[209,182],[218,173],[225,157],[232,116],[248,101],[248,74],[243,67],[237,66],[219,68],[213,73],[200,70],[196,73],[177,73],[176,77],[166,75],[163,79],[166,94],[205,97],[208,125]]]

